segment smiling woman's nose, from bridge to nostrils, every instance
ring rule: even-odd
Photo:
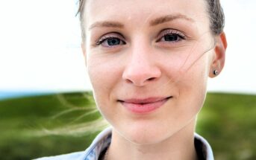
[[[126,83],[134,86],[146,86],[146,84],[156,81],[160,75],[160,68],[157,66],[157,57],[147,47],[136,47],[131,49],[128,61],[122,78]]]

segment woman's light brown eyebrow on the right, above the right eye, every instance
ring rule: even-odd
[[[188,16],[185,16],[183,14],[174,14],[174,15],[170,14],[170,15],[166,15],[166,16],[160,16],[157,19],[153,19],[152,21],[149,22],[149,25],[150,26],[160,25],[162,23],[170,22],[170,21],[173,21],[175,19],[185,19],[185,20],[190,21],[190,22],[195,22],[194,19],[192,19]]]

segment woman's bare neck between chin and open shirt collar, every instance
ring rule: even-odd
[[[119,135],[119,133],[113,129],[112,141],[108,150],[107,159],[196,160],[197,156],[194,146],[195,121],[192,121],[174,135],[157,144],[134,144],[122,137],[122,135]]]

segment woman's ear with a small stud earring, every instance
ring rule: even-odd
[[[214,48],[214,56],[212,64],[210,65],[209,77],[216,77],[222,71],[225,64],[225,51],[228,46],[225,33],[222,32],[215,37],[216,45]],[[214,71],[215,74],[214,74]]]

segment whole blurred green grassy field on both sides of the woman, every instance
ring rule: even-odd
[[[84,150],[105,126],[90,92],[1,100],[0,159]],[[256,96],[209,93],[196,130],[216,160],[255,160]]]

